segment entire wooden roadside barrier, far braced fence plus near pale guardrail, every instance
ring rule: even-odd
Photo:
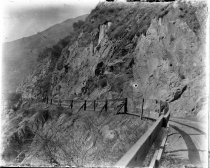
[[[22,99],[27,100],[27,99]],[[151,99],[152,100],[152,99]],[[155,100],[155,99],[154,99]],[[32,102],[40,102],[40,100],[33,100],[30,99]],[[155,100],[157,101],[157,100]],[[103,110],[108,111],[108,108],[111,108],[111,102],[112,104],[115,104],[116,102],[120,102],[121,104],[117,105],[117,109],[114,109],[116,114],[131,114],[128,113],[128,100],[127,98],[119,98],[119,99],[105,99],[105,100],[73,100],[73,99],[53,99],[53,98],[46,98],[42,99],[42,102],[45,102],[47,104],[54,104],[58,106],[64,106],[73,109],[76,106],[76,104],[79,104],[80,110],[86,111],[87,108],[96,111],[96,109],[99,107],[99,115]],[[114,103],[113,103],[114,102]],[[147,130],[147,132],[125,153],[125,155],[115,164],[115,167],[141,167],[143,164],[143,161],[152,146],[155,138],[158,136],[160,130],[162,127],[167,127],[167,123],[170,118],[170,112],[169,107],[167,104],[167,108],[162,110],[161,107],[161,101],[157,101],[160,104],[159,109],[159,117],[157,119],[153,119],[154,124]],[[148,118],[146,116],[143,116],[144,114],[144,103],[145,99],[142,99],[142,105],[141,105],[141,115],[138,117]],[[164,102],[165,103],[165,102]],[[100,105],[102,105],[100,107]],[[122,110],[123,109],[123,110]],[[164,113],[162,113],[164,111]],[[131,114],[135,115],[135,114]],[[164,138],[163,143],[161,144],[164,146],[165,141],[167,139],[167,136]],[[152,167],[156,167],[159,163],[161,154],[163,150],[160,150],[155,153],[156,159],[153,160],[153,162],[150,165],[154,165]]]

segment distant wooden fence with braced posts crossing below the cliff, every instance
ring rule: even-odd
[[[93,111],[108,111],[114,110],[116,114],[128,114],[128,115],[135,115],[141,117],[141,119],[148,119],[152,121],[156,121],[157,118],[150,118],[144,112],[144,104],[146,101],[155,101],[156,104],[159,104],[158,115],[161,115],[161,101],[156,99],[142,99],[141,101],[141,111],[140,114],[130,113],[128,109],[128,99],[127,98],[117,98],[117,99],[105,99],[105,100],[79,100],[79,99],[55,99],[46,97],[45,99],[23,99],[29,100],[30,102],[45,102],[47,104],[62,106],[70,109],[74,109],[77,111],[80,110],[93,110]],[[116,108],[113,109],[113,104],[117,104]]]

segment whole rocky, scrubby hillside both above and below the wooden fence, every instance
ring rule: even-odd
[[[5,160],[112,166],[151,125],[116,110],[75,113],[34,102],[46,97],[127,98],[134,114],[140,114],[143,98],[145,113],[156,111],[161,100],[172,117],[205,119],[206,14],[203,2],[98,4],[71,36],[44,50],[18,87],[30,101],[20,96],[10,103],[15,108],[9,112]]]

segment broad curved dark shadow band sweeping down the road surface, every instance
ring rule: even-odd
[[[173,129],[175,129],[176,131],[178,131],[180,133],[180,135],[183,137],[183,139],[187,145],[188,158],[189,158],[190,162],[193,164],[201,163],[199,151],[196,148],[195,144],[193,143],[191,137],[186,132],[179,129],[178,127],[176,127],[174,125],[171,125],[171,127]]]

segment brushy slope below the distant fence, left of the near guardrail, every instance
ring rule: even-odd
[[[7,125],[3,159],[30,166],[109,165],[122,156],[149,124],[111,111],[96,114],[85,111],[72,114],[70,109],[42,103],[21,108]],[[34,165],[32,157],[39,163]]]

